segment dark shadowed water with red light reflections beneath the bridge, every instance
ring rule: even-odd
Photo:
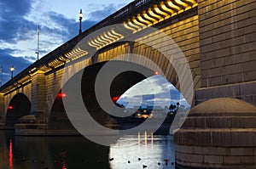
[[[0,131],[1,169],[108,169],[108,155],[108,147],[84,137],[20,137]]]

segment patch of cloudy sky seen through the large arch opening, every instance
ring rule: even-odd
[[[134,91],[134,93],[131,91]],[[118,100],[119,104],[124,104],[128,107],[140,104],[144,107],[147,105],[165,107],[166,105],[177,104],[177,102],[189,107],[183,95],[170,82],[167,82],[163,76],[151,76],[142,82],[138,82]]]

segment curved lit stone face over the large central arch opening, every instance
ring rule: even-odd
[[[131,37],[131,39],[128,37],[122,42],[110,44],[95,53],[91,52],[83,59],[68,62],[60,73],[61,78],[67,78],[66,81],[68,81],[84,67],[89,68],[104,62],[108,63],[110,60],[127,61],[146,67],[151,72],[159,71],[160,75],[165,76],[166,80],[171,82],[185,99],[189,100],[189,104],[193,104],[191,102],[195,97],[194,90],[200,86],[200,76],[198,75],[200,62],[192,62],[188,54],[183,54],[184,48],[179,48],[181,44],[163,32],[164,30],[149,29],[137,37]],[[83,46],[85,41],[86,37],[78,43],[78,48],[86,49]],[[186,52],[188,53],[188,51]],[[192,68],[193,66],[194,68]],[[52,83],[59,84],[58,87],[61,88],[61,78],[54,78],[57,79],[57,82]],[[78,80],[78,82],[80,81]],[[55,94],[52,97],[51,109],[54,107],[54,96]],[[49,110],[49,116],[50,113]]]

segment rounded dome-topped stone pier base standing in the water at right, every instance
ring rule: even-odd
[[[196,105],[174,134],[177,168],[256,168],[256,107],[239,99]]]

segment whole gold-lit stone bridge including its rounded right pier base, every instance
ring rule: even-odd
[[[111,98],[159,72],[194,107],[174,135],[177,166],[255,168],[255,65],[256,1],[137,0],[0,87],[0,122],[13,128],[21,116],[35,114],[48,131],[72,127],[62,100],[73,95],[64,90],[73,84],[104,125],[99,72],[110,107]]]

